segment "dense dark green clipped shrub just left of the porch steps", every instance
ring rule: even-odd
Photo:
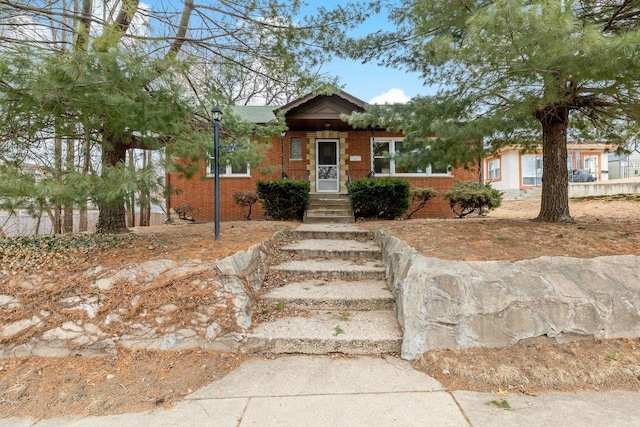
[[[309,204],[309,182],[290,179],[258,181],[257,192],[267,217],[302,219]]]

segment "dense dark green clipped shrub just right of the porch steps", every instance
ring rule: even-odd
[[[394,219],[409,208],[409,183],[398,178],[364,178],[347,188],[356,217]]]

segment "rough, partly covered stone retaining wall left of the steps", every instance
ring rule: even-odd
[[[277,233],[273,239],[280,238]],[[235,351],[242,333],[251,325],[255,308],[254,293],[263,282],[269,242],[263,242],[207,264],[200,260],[156,260],[132,265],[127,269],[94,267],[70,277],[70,281],[92,284],[91,293],[68,294],[56,301],[65,313],[39,309],[28,318],[0,323],[0,358],[38,356],[116,354],[118,347],[128,349],[204,348]],[[141,306],[142,293],[154,284],[168,280],[189,280],[204,291],[206,298],[185,308],[167,300],[161,307]],[[0,283],[16,280],[11,272],[0,271]],[[32,273],[18,285],[29,289],[51,286],[47,273]],[[122,295],[118,283],[140,286],[140,293]],[[84,287],[86,289],[86,287]],[[153,292],[153,290],[148,291]],[[110,298],[126,298],[127,308],[101,313]],[[30,302],[0,291],[0,311],[26,310]],[[123,311],[124,310],[124,311]],[[138,313],[135,320],[127,311]],[[176,313],[188,312],[188,324],[173,322]],[[231,310],[235,325],[219,325],[217,313]],[[116,331],[114,333],[113,331]],[[18,339],[29,336],[26,341]]]

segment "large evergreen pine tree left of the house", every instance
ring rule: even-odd
[[[99,205],[102,232],[126,230],[125,200],[136,190],[136,177],[125,170],[127,150],[167,147],[169,172],[184,166],[179,158],[195,165],[206,158],[211,107],[216,100],[235,100],[239,91],[232,90],[233,96],[215,86],[202,91],[194,84],[197,64],[221,74],[232,64],[233,70],[269,82],[264,99],[273,99],[278,87],[294,93],[300,87],[322,87],[313,70],[326,56],[310,41],[318,32],[336,34],[338,26],[360,19],[353,12],[296,25],[297,0],[184,0],[175,9],[176,4],[0,2],[4,155],[33,153],[38,143],[51,139],[92,141],[101,151],[100,177],[89,172],[90,185],[83,188]],[[187,95],[184,88],[192,92]],[[265,137],[274,129],[259,133]],[[253,130],[228,110],[223,130],[225,140],[237,148],[235,162],[259,154],[248,148]],[[78,175],[74,178],[79,182]]]

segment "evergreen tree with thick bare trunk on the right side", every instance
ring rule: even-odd
[[[640,119],[640,2],[404,0],[392,32],[340,44],[344,55],[418,71],[438,87],[352,123],[407,135],[422,164],[468,164],[505,146],[542,144],[538,219],[572,221],[567,134],[624,144]],[[337,46],[335,40],[328,40]]]

